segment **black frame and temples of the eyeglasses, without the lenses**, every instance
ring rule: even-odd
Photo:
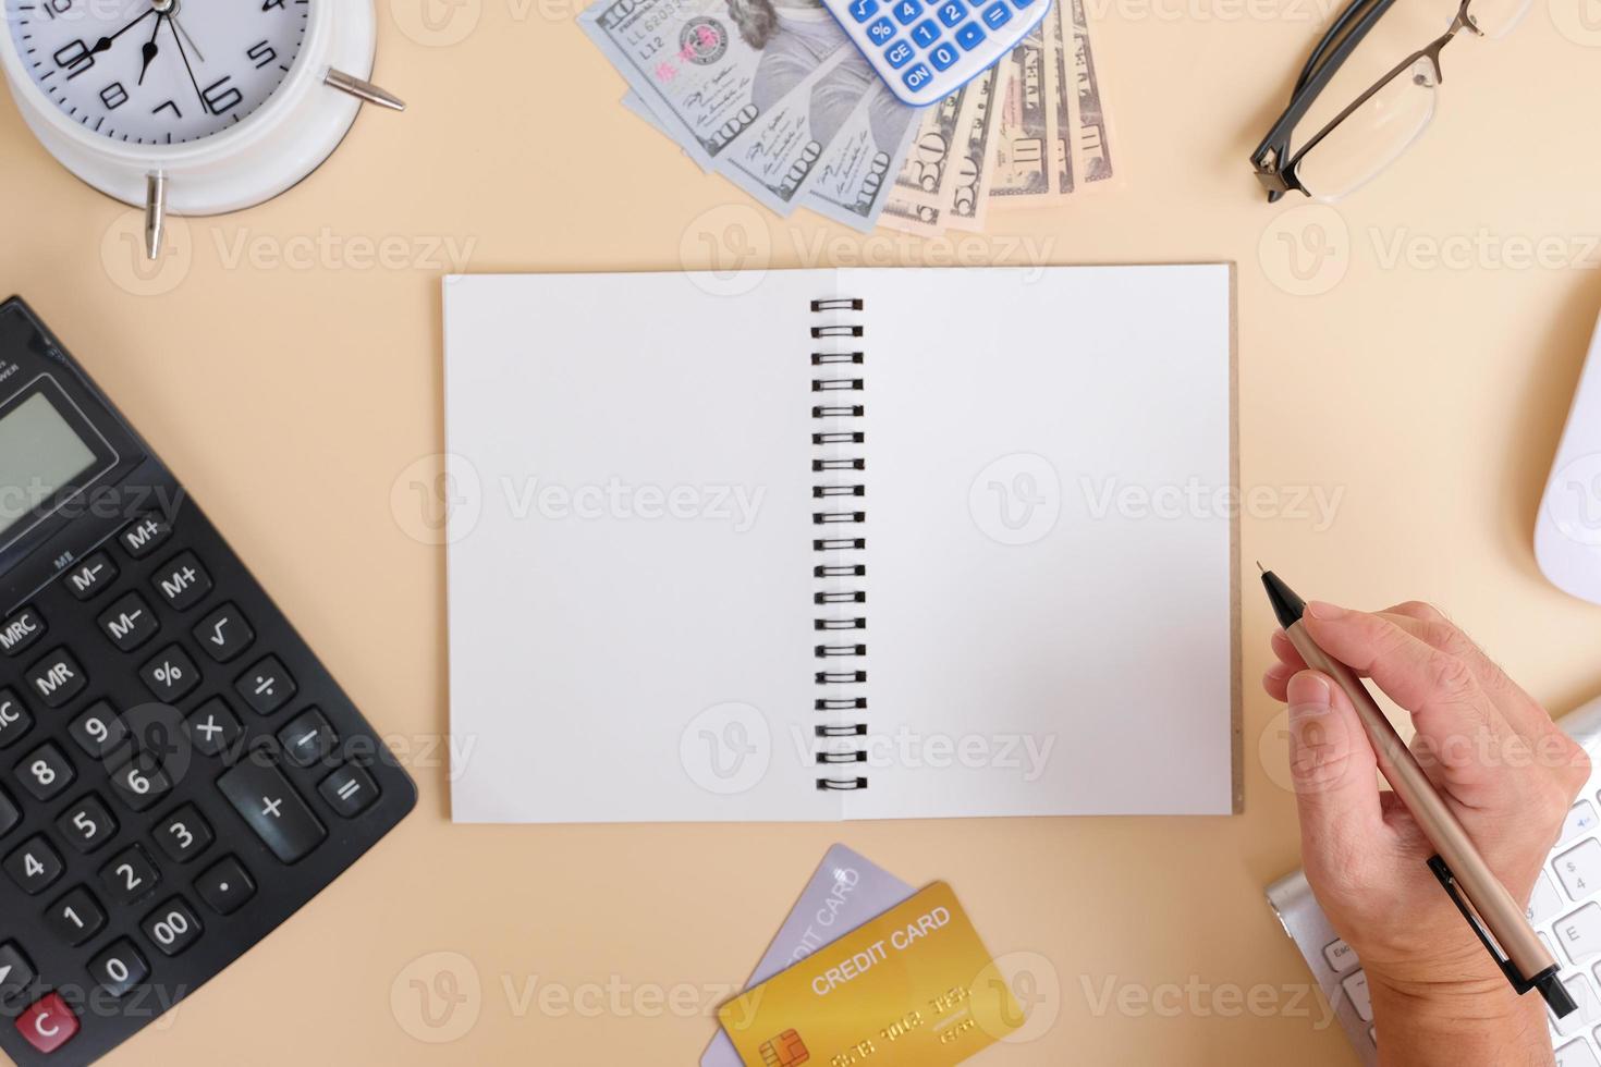
[[[1462,0],[1457,8],[1457,16],[1451,21],[1451,27],[1436,37],[1433,42],[1418,48],[1410,56],[1391,67],[1382,78],[1374,82],[1367,90],[1358,96],[1351,104],[1342,110],[1338,115],[1330,118],[1322,130],[1319,130],[1306,144],[1300,147],[1298,152],[1290,155],[1290,134],[1306,112],[1311,110],[1313,102],[1318,96],[1329,86],[1334,75],[1340,70],[1346,59],[1361,46],[1362,38],[1372,32],[1378,24],[1378,19],[1394,6],[1396,0],[1351,0],[1351,3],[1340,13],[1340,18],[1334,21],[1329,30],[1313,48],[1311,56],[1306,59],[1306,66],[1302,67],[1300,78],[1295,80],[1295,90],[1290,93],[1290,104],[1268,130],[1268,136],[1262,139],[1257,150],[1250,154],[1250,165],[1257,171],[1257,181],[1268,192],[1268,203],[1276,203],[1289,190],[1298,190],[1303,195],[1313,195],[1300,181],[1297,170],[1300,162],[1311,152],[1318,144],[1327,138],[1334,130],[1350,118],[1350,115],[1366,104],[1378,90],[1390,85],[1390,82],[1399,75],[1402,70],[1412,67],[1418,59],[1428,59],[1434,67],[1434,83],[1441,85],[1446,80],[1446,74],[1439,64],[1439,53],[1444,51],[1446,45],[1455,40],[1457,34],[1468,30],[1476,37],[1484,37],[1484,30],[1478,27],[1473,16],[1468,14],[1468,5],[1473,0]]]

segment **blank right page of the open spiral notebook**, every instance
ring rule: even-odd
[[[1234,809],[1231,270],[842,270],[866,352],[849,817]]]

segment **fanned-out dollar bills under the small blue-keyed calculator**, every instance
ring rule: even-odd
[[[597,0],[624,106],[778,214],[981,230],[1105,187],[1114,154],[1084,0],[938,104],[901,104],[815,0]]]

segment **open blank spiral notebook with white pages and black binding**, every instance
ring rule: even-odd
[[[445,282],[461,822],[1228,814],[1230,266]]]

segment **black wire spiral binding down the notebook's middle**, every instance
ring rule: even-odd
[[[866,302],[860,299],[812,301],[813,314],[861,310],[866,310]],[[855,341],[863,334],[865,330],[852,323],[831,322],[812,326],[812,338],[818,341]],[[812,550],[828,553],[826,563],[812,568],[812,577],[820,582],[812,601],[828,609],[813,622],[821,643],[813,646],[812,654],[825,661],[818,664],[823,670],[818,670],[813,680],[820,686],[828,686],[828,696],[820,696],[813,702],[818,712],[868,710],[868,697],[860,696],[860,689],[855,688],[868,681],[868,672],[861,667],[868,656],[863,640],[868,619],[861,614],[861,605],[868,601],[863,589],[868,566],[852,558],[852,553],[868,547],[868,539],[860,536],[868,522],[865,510],[868,486],[852,480],[855,472],[868,469],[868,461],[860,454],[860,446],[868,440],[861,429],[861,419],[866,416],[866,405],[861,403],[865,363],[866,357],[858,350],[812,354],[812,392],[828,394],[826,400],[820,397],[820,403],[812,406],[812,418],[818,421],[818,429],[812,434],[812,446],[817,450],[812,472],[821,475],[812,486],[812,499],[820,509],[812,512],[812,525],[820,534],[812,539]],[[841,747],[849,744],[845,739],[865,737],[866,733],[866,723],[860,721],[817,726],[817,737],[825,742],[815,753],[818,766],[866,763],[865,750]],[[817,787],[853,792],[866,789],[868,779],[845,777],[839,769],[831,769],[817,779]]]

